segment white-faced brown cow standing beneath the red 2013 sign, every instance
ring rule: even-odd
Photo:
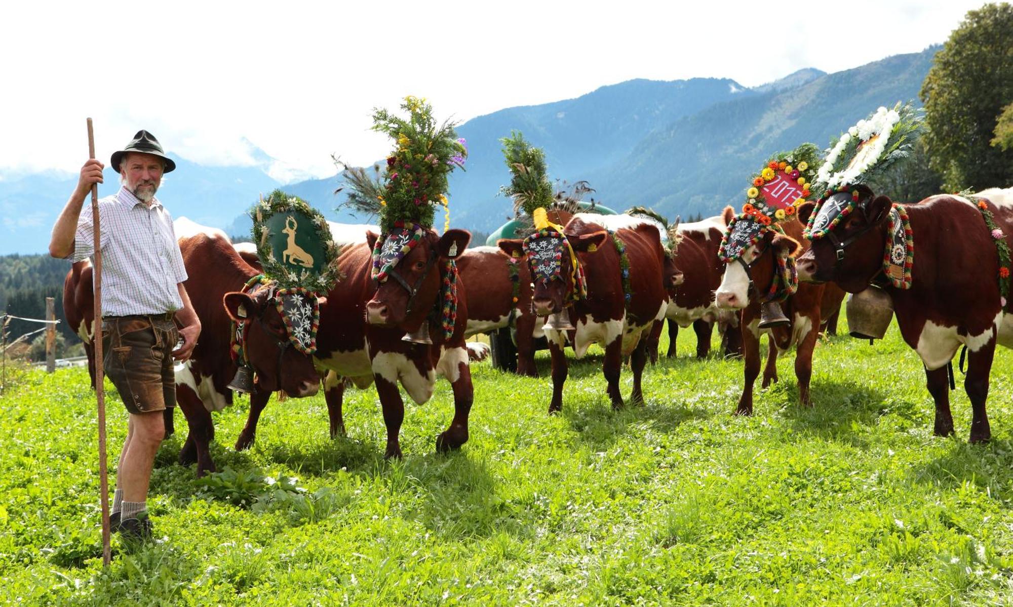
[[[802,205],[811,208],[811,203]],[[725,209],[728,212],[729,209]],[[730,218],[728,218],[730,220]],[[725,309],[742,310],[739,326],[743,334],[745,358],[745,384],[738,399],[737,415],[753,414],[753,383],[760,374],[760,335],[771,335],[771,346],[764,368],[763,387],[777,381],[777,355],[792,345],[795,351],[795,376],[798,377],[798,398],[802,405],[810,406],[809,377],[812,375],[812,350],[820,330],[820,312],[824,285],[799,284],[798,290],[781,304],[790,324],[773,329],[759,328],[760,300],[756,293],[766,293],[775,277],[775,255],[794,256],[807,247],[802,239],[802,225],[796,218],[781,224],[786,235],[766,231],[763,238],[747,248],[739,260],[727,264],[721,286],[717,289],[717,305]],[[750,286],[755,285],[755,290]]]

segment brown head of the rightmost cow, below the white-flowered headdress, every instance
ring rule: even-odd
[[[854,200],[852,192],[857,192]],[[865,185],[829,196],[813,219],[811,246],[798,258],[798,278],[806,282],[836,282],[846,291],[858,292],[882,269],[887,222],[892,201],[875,196]],[[812,204],[798,209],[798,219],[807,224]],[[843,209],[849,208],[847,212]],[[833,216],[831,216],[833,215]],[[838,223],[825,235],[816,230]]]

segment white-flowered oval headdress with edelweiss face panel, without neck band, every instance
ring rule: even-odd
[[[911,103],[898,102],[892,109],[880,107],[859,120],[831,146],[816,173],[816,182],[826,191],[809,215],[803,235],[819,239],[851,213],[858,202],[855,186],[868,183],[893,163],[911,155],[921,128],[922,117]],[[836,194],[851,194],[836,196]],[[826,203],[834,196],[833,204]]]

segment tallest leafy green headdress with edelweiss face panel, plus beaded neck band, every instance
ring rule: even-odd
[[[350,186],[345,204],[379,215],[381,234],[373,248],[372,275],[381,282],[433,228],[437,206],[446,212],[444,231],[450,229],[447,176],[455,168],[463,169],[468,156],[465,141],[457,138],[454,124],[438,124],[425,99],[408,96],[400,107],[407,112],[407,119],[386,109],[373,112],[373,131],[388,135],[395,144],[382,174],[373,179],[363,169],[344,167]],[[441,264],[440,279],[437,306],[444,336],[449,339],[457,319],[457,264],[453,259]]]

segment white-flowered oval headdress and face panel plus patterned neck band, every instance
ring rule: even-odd
[[[824,197],[802,232],[805,238],[827,236],[859,203],[857,186],[868,183],[894,162],[907,158],[922,127],[921,116],[911,104],[900,102],[892,109],[880,107],[841,135],[827,153],[816,174],[816,183],[826,187]],[[867,190],[872,200],[871,190]],[[915,262],[915,238],[904,207],[894,203],[889,219],[890,237],[883,253],[883,273],[897,288],[911,287]]]

